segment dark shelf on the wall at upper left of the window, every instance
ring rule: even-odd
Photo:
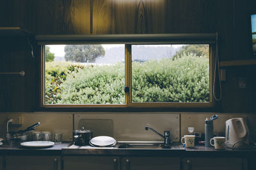
[[[20,27],[0,27],[0,36],[29,36],[31,32]]]

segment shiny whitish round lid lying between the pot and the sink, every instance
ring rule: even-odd
[[[116,144],[116,140],[114,138],[111,138],[109,136],[97,136],[95,138],[92,138],[90,140],[90,144],[94,146],[113,146]]]

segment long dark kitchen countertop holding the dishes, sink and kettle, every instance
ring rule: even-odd
[[[194,148],[184,148],[179,143],[172,148],[118,148],[76,146],[70,143],[61,143],[50,148],[24,148],[22,146],[0,146],[0,155],[154,155],[175,157],[255,157],[256,147],[246,150],[215,150],[213,147],[196,145]]]

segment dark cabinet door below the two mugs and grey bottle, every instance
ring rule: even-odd
[[[182,161],[182,170],[242,170],[240,158],[188,158]]]

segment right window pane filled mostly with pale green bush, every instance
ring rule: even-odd
[[[132,103],[209,101],[209,45],[132,45]]]

